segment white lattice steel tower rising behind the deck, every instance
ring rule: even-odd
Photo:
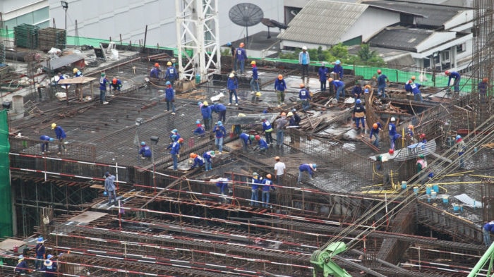
[[[181,78],[220,73],[218,0],[175,0],[175,8]]]

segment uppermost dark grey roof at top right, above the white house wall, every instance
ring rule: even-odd
[[[452,6],[433,5],[416,2],[402,2],[402,1],[368,1],[369,6],[376,8],[385,8],[392,11],[399,11],[401,13],[415,13],[423,17],[416,18],[418,25],[425,25],[431,27],[441,27],[456,16],[459,11],[470,10],[471,8],[460,8]]]

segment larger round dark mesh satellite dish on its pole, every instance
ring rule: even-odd
[[[230,8],[231,22],[239,26],[246,26],[246,42],[248,41],[248,26],[257,25],[263,19],[263,10],[254,4],[241,3]]]

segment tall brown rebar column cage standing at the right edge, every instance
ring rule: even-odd
[[[473,74],[477,80],[473,82],[472,92],[476,102],[477,124],[483,123],[492,113],[494,81],[494,1],[474,0],[474,46]],[[486,97],[478,94],[477,82],[489,79]]]

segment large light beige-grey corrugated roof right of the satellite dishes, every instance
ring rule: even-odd
[[[321,45],[337,44],[367,7],[366,4],[312,0],[277,38]]]

